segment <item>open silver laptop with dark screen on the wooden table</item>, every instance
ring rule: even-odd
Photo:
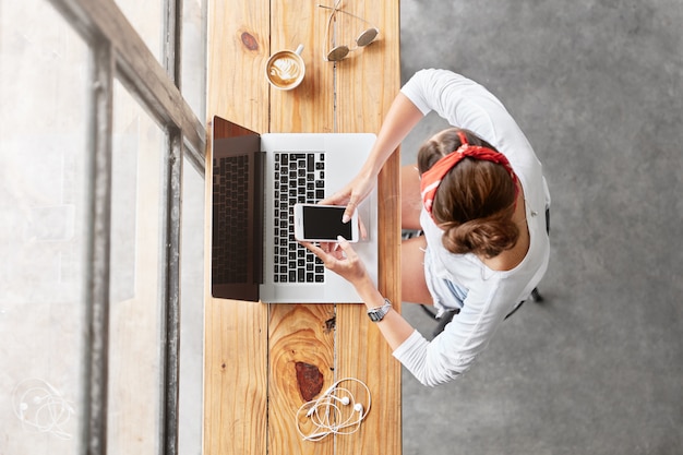
[[[354,287],[293,237],[293,205],[317,203],[360,170],[371,133],[257,134],[213,119],[212,295],[267,303],[357,303]],[[376,190],[354,244],[376,284]]]

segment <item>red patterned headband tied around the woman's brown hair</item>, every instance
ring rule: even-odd
[[[460,137],[462,145],[455,152],[442,157],[432,166],[429,170],[422,173],[420,180],[420,192],[422,194],[422,202],[424,203],[424,208],[427,212],[432,215],[432,205],[434,203],[434,195],[436,194],[436,190],[439,190],[439,185],[441,181],[445,177],[445,175],[453,168],[455,165],[460,163],[466,157],[483,159],[487,161],[495,163],[498,165],[502,165],[505,167],[505,170],[512,177],[513,182],[515,183],[515,201],[517,200],[517,176],[515,176],[515,171],[513,170],[510,161],[500,152],[493,151],[488,147],[482,147],[479,145],[469,145],[467,142],[467,136],[462,131],[458,131],[458,136]],[[433,218],[433,216],[432,216]]]

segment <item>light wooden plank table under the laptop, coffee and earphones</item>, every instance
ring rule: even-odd
[[[379,131],[400,84],[398,1],[342,3],[381,33],[378,41],[336,64],[322,58],[328,10],[316,4],[316,0],[209,0],[209,121],[217,115],[257,132]],[[340,15],[336,43],[352,44],[367,26]],[[264,80],[266,59],[299,44],[304,45],[307,63],[302,85],[292,92],[271,89]],[[207,176],[211,166],[207,154]],[[399,166],[395,153],[379,181],[380,291],[398,308]],[[211,178],[206,191],[211,194]],[[206,201],[211,219],[211,197]],[[205,238],[211,271],[211,223]],[[205,295],[206,455],[400,454],[400,366],[368,320],[364,306],[213,299],[208,276]],[[347,376],[368,384],[372,408],[358,433],[321,442],[301,439],[295,426],[295,414],[304,403],[297,363],[322,373],[323,391]]]

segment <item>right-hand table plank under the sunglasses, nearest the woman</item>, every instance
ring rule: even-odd
[[[338,64],[337,121],[340,131],[378,132],[400,87],[398,1],[345,3],[345,11],[366,19],[340,22],[339,43],[351,43],[363,27],[380,28],[376,43],[351,52]],[[355,27],[354,27],[355,25]],[[350,34],[350,35],[349,35]],[[380,291],[400,310],[400,157],[395,153],[379,180]],[[393,229],[387,229],[394,227]],[[372,408],[358,435],[337,438],[339,454],[402,453],[400,364],[364,306],[337,309],[337,370],[339,378],[366,381]]]

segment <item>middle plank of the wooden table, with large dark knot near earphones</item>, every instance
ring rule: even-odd
[[[303,45],[305,76],[292,91],[271,88],[271,132],[332,132],[334,67],[322,59],[325,14],[314,2],[273,0],[271,53]],[[303,441],[296,411],[334,382],[334,312],[332,304],[274,304],[269,320],[268,453],[333,454],[334,439]],[[297,364],[320,374],[311,390],[297,379]]]

